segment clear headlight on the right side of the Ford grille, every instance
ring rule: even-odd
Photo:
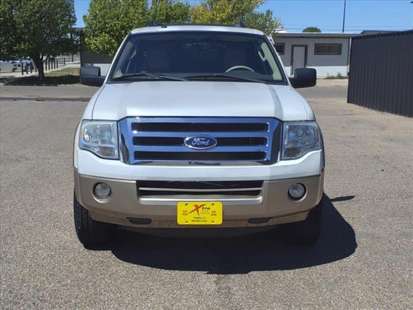
[[[297,159],[320,149],[320,129],[316,122],[284,123],[281,160]]]

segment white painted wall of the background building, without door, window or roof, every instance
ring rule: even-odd
[[[280,55],[287,73],[291,74],[291,46],[308,45],[307,47],[307,68],[317,70],[317,77],[337,75],[340,72],[347,76],[347,65],[349,57],[349,38],[280,38],[273,36],[275,43],[285,43],[284,55]],[[341,55],[314,55],[315,43],[341,43]]]

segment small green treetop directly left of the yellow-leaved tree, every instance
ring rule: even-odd
[[[190,19],[188,2],[178,0],[152,0],[149,9],[150,20],[160,24],[186,23]]]

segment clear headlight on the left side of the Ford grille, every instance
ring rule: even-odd
[[[102,158],[118,159],[117,122],[82,121],[79,132],[79,148],[88,150]]]

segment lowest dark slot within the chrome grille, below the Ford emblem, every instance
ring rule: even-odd
[[[135,151],[135,160],[265,160],[266,152],[150,152]]]

